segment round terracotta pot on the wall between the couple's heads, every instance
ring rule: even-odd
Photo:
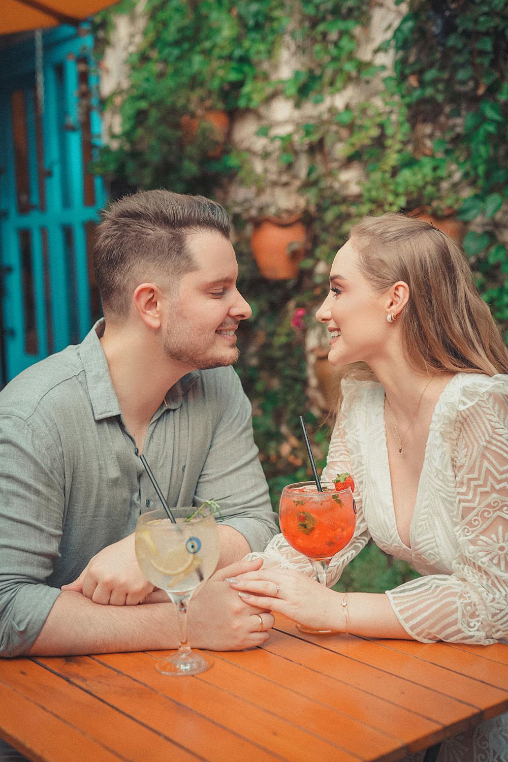
[[[306,234],[299,215],[286,219],[266,217],[254,226],[251,250],[265,278],[287,280],[298,275]]]

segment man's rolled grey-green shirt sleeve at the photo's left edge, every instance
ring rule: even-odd
[[[0,656],[27,653],[60,591],[45,584],[58,557],[62,463],[15,415],[0,416]]]

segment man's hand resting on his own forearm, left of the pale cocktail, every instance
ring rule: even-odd
[[[62,590],[82,593],[95,604],[136,606],[155,590],[136,561],[134,534],[108,545],[94,555],[75,581]]]

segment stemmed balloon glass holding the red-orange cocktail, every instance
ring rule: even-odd
[[[297,482],[280,496],[280,531],[289,545],[306,555],[316,578],[326,585],[328,564],[347,546],[356,527],[356,505],[349,487],[337,490],[332,483]],[[303,632],[330,632],[300,626]]]

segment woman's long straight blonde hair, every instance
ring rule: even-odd
[[[508,350],[461,248],[404,214],[364,217],[350,240],[359,268],[382,293],[398,280],[410,297],[399,319],[407,359],[434,373],[508,373]]]

